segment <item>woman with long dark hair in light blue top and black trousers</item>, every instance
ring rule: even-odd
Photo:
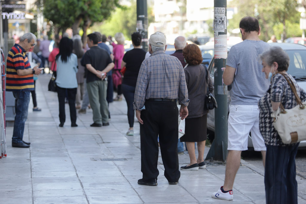
[[[70,109],[71,127],[76,127],[76,72],[77,56],[72,53],[73,41],[67,37],[63,37],[59,43],[59,53],[56,55],[56,90],[58,93],[59,104],[59,127],[63,127],[66,119],[65,115],[65,95],[68,93],[68,102]]]

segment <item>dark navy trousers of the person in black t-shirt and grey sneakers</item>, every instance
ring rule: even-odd
[[[121,85],[122,93],[124,95],[126,104],[128,105],[128,121],[130,128],[134,127],[134,117],[135,117],[135,111],[134,111],[134,95],[135,95],[135,89],[136,87],[132,87],[126,84]]]

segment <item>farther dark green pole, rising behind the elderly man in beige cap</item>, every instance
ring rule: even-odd
[[[142,36],[142,49],[148,51],[148,11],[147,0],[137,0],[137,24],[136,30]]]

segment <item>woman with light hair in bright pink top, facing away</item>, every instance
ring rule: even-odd
[[[123,33],[116,33],[115,34],[115,40],[117,41],[117,44],[112,43],[112,46],[114,47],[114,71],[113,71],[113,83],[114,83],[114,89],[117,90],[117,97],[114,98],[114,101],[121,101],[122,100],[122,91],[121,91],[121,83],[122,83],[122,77],[121,77],[121,61],[124,56],[124,35]]]

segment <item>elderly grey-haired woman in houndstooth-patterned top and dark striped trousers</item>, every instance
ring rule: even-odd
[[[266,202],[297,204],[295,156],[299,143],[282,143],[282,139],[272,124],[274,119],[271,113],[276,111],[281,103],[285,109],[297,106],[295,96],[285,76],[293,82],[302,101],[306,99],[306,92],[286,72],[289,66],[289,56],[282,48],[272,46],[260,55],[260,59],[263,65],[262,72],[265,73],[266,79],[271,81],[270,88],[258,101],[259,130],[267,146],[264,178]]]

